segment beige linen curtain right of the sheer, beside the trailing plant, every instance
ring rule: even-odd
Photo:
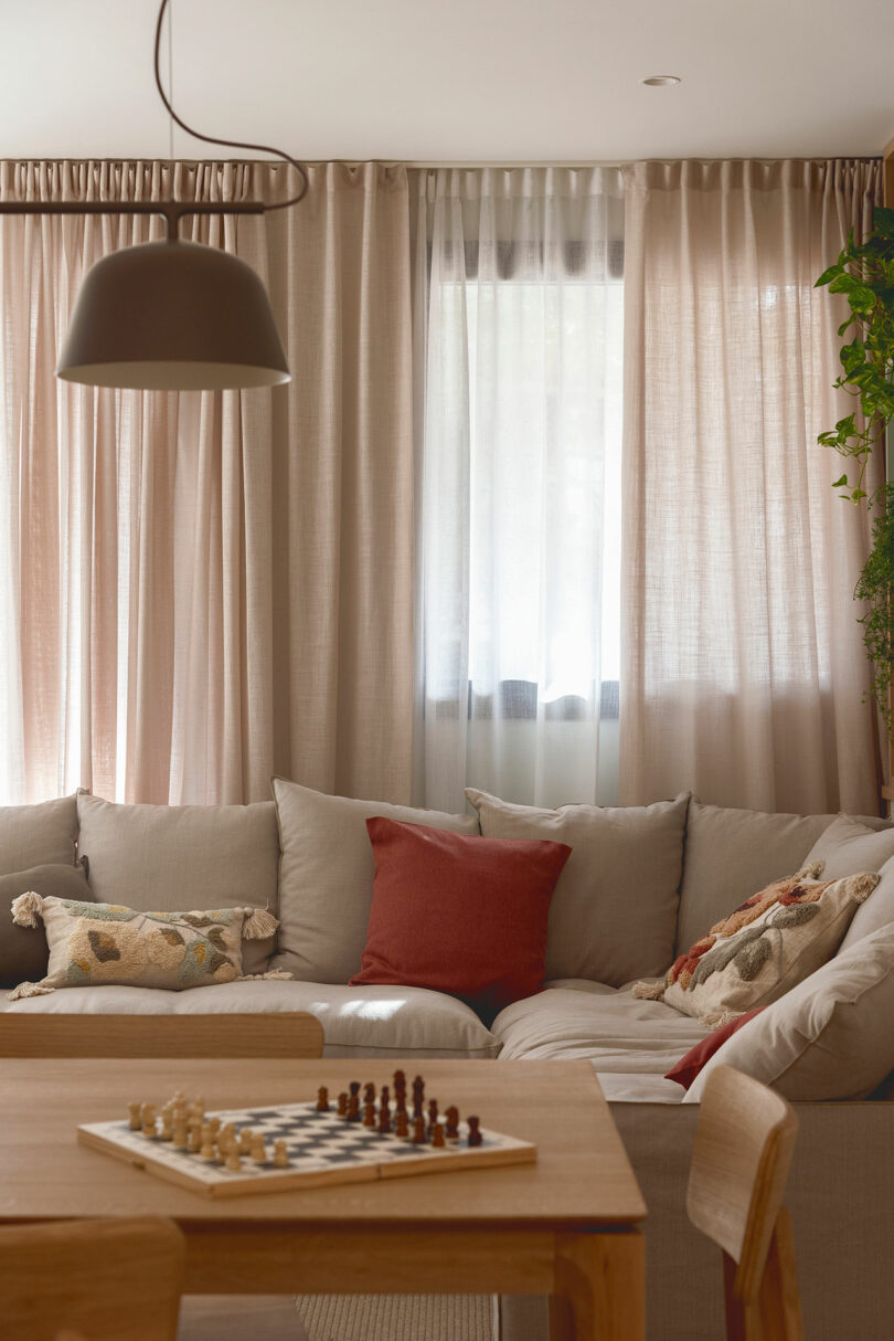
[[[877,813],[869,526],[816,447],[854,408],[844,310],[814,282],[881,166],[645,162],[625,185],[622,801]]]

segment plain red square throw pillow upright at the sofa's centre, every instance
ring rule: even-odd
[[[567,843],[472,838],[383,818],[366,827],[375,882],[353,987],[432,987],[485,1011],[540,991]]]

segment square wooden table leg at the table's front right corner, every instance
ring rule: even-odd
[[[645,1341],[642,1234],[560,1234],[555,1250],[551,1341]]]

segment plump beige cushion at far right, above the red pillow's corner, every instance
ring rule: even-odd
[[[894,1070],[893,1021],[890,924],[749,1019],[714,1053],[685,1102],[698,1104],[712,1067],[722,1065],[791,1100],[865,1098]]]

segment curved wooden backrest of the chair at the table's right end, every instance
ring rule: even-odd
[[[735,1295],[757,1298],[795,1149],[797,1117],[760,1081],[717,1066],[701,1098],[689,1219],[736,1263]]]

